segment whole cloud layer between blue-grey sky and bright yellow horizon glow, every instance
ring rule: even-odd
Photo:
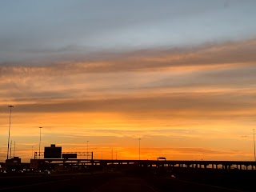
[[[91,62],[1,65],[0,98],[17,113],[247,114],[255,105],[255,47],[250,39]]]

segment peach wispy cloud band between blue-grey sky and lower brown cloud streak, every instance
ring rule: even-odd
[[[2,101],[49,102],[74,98],[194,91],[254,90],[255,40],[178,50],[145,50],[105,60],[40,66],[1,65]],[[210,88],[209,88],[210,87]]]

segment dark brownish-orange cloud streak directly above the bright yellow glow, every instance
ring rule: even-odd
[[[21,104],[15,113],[118,112],[186,116],[242,114],[254,111],[254,94],[166,94],[146,98],[113,98],[73,102]]]

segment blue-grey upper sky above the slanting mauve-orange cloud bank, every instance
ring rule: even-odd
[[[255,1],[2,1],[1,62],[198,46],[256,33]]]

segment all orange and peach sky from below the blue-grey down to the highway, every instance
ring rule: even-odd
[[[94,151],[94,158],[253,160],[256,39],[184,49],[66,58],[0,70],[0,162],[10,139]],[[120,56],[121,55],[121,56]]]

